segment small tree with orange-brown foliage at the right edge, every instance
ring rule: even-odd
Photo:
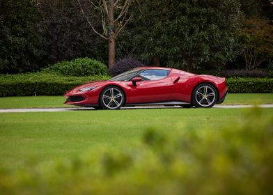
[[[246,69],[256,69],[273,57],[273,26],[269,20],[258,17],[242,20],[242,53]]]

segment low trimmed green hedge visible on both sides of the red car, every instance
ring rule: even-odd
[[[26,95],[63,95],[65,91],[88,81],[109,76],[65,77],[49,73],[0,75],[0,97]],[[229,78],[230,93],[273,93],[273,78]]]

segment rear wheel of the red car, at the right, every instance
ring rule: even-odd
[[[217,90],[211,84],[199,84],[192,93],[192,104],[194,107],[213,107],[217,100]]]

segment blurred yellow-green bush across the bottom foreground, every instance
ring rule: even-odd
[[[250,109],[247,109],[249,111]],[[150,128],[137,147],[104,148],[37,169],[0,169],[3,194],[273,194],[273,118]]]

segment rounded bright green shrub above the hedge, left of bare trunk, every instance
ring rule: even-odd
[[[67,76],[107,75],[107,66],[94,59],[79,58],[73,61],[56,63],[44,71],[58,72]]]

